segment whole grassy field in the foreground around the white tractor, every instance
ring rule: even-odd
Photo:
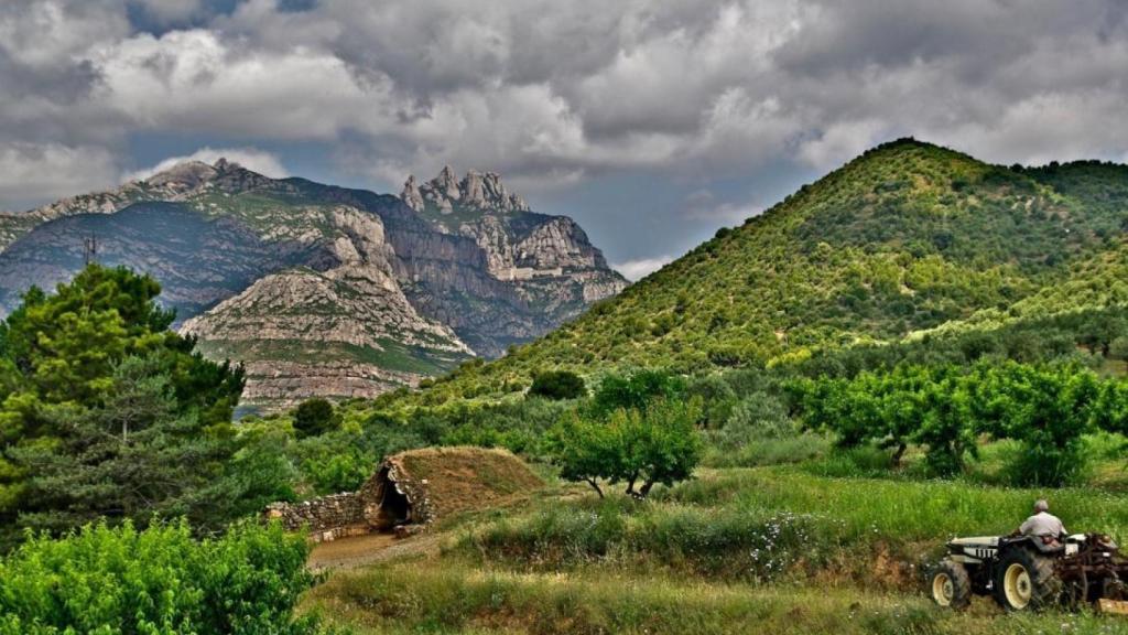
[[[922,583],[948,538],[1007,532],[1040,496],[1072,531],[1128,537],[1128,496],[830,468],[705,469],[647,503],[564,486],[446,524],[438,553],[332,574],[305,610],[360,634],[1128,633],[989,600],[954,614]]]

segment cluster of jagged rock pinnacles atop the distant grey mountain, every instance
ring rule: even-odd
[[[415,211],[423,211],[429,203],[442,214],[452,212],[456,205],[482,211],[529,211],[525,199],[505,190],[496,172],[470,169],[459,180],[449,165],[423,184],[408,176],[399,198]]]

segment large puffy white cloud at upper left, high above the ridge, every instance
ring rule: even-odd
[[[335,139],[395,119],[381,86],[302,49],[245,51],[211,32],[138,35],[98,49],[97,101],[141,129],[270,139]]]

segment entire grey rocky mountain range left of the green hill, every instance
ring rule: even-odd
[[[188,162],[0,215],[0,314],[91,258],[157,278],[200,350],[245,364],[250,408],[416,385],[627,286],[572,219],[450,167],[395,197]]]

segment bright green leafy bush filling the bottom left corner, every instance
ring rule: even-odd
[[[28,539],[0,560],[0,634],[305,634],[303,537],[246,523],[195,541],[187,523],[87,525]]]

